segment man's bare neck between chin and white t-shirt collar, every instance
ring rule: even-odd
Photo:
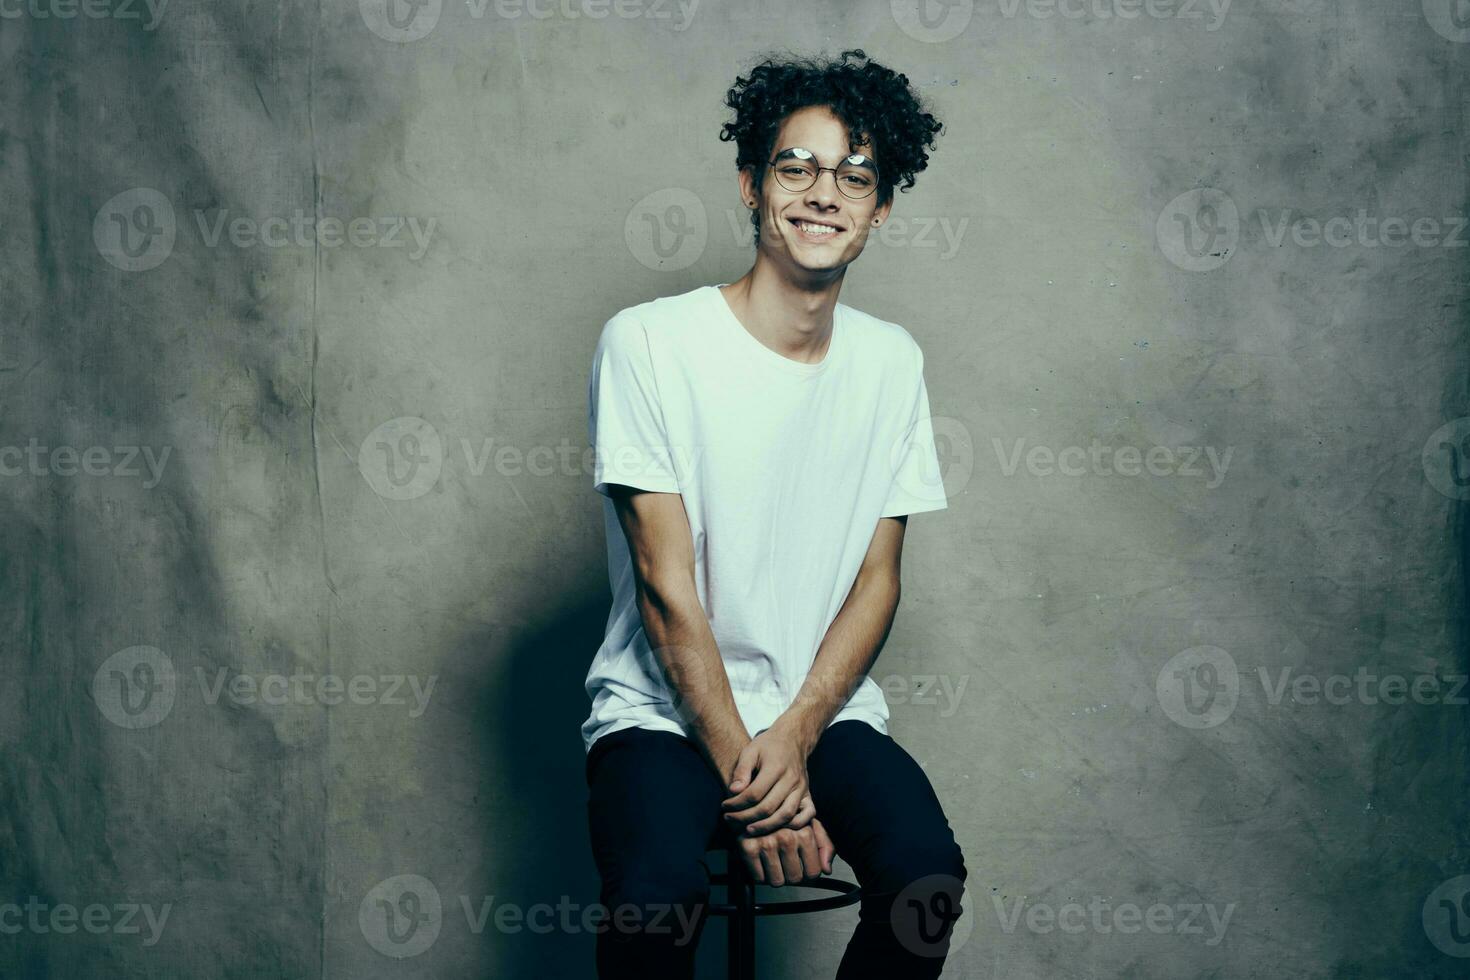
[[[832,341],[832,310],[845,273],[842,269],[832,278],[794,282],[757,259],[750,272],[720,292],[751,336],[782,357],[816,364]]]

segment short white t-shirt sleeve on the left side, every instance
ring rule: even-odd
[[[679,492],[648,335],[635,317],[619,314],[603,326],[588,379],[587,426],[598,494],[609,497],[609,483]]]

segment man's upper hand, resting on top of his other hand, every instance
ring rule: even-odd
[[[729,789],[735,795],[723,804],[725,820],[736,835],[801,830],[816,817],[806,748],[785,727],[772,726],[741,749]]]

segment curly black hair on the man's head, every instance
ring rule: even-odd
[[[842,51],[838,59],[766,57],[750,75],[735,79],[725,104],[735,119],[720,128],[720,140],[735,143],[735,169],[753,167],[756,191],[766,176],[776,132],[791,113],[808,106],[826,106],[848,129],[848,148],[873,143],[878,159],[878,204],[892,200],[894,187],[907,191],[914,175],[929,165],[935,137],[944,128],[931,115],[908,76],[883,68],[861,48]],[[760,212],[753,210],[756,241],[760,242]]]

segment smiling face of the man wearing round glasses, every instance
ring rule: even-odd
[[[776,134],[770,159],[792,147],[810,150],[816,154],[816,166],[822,167],[839,166],[854,153],[848,148],[847,126],[825,106],[808,106],[791,113]],[[857,153],[882,166],[872,145],[858,147]],[[832,170],[822,170],[816,184],[806,191],[789,191],[782,187],[773,167],[761,166],[760,250],[794,270],[841,272],[861,254],[867,232],[873,229],[873,219],[888,217],[891,203],[879,207],[876,190],[861,200],[853,200],[838,190],[838,176]],[[873,178],[876,181],[876,173]],[[745,200],[756,200],[748,170],[741,173],[741,190]],[[851,184],[848,190],[853,190]]]

